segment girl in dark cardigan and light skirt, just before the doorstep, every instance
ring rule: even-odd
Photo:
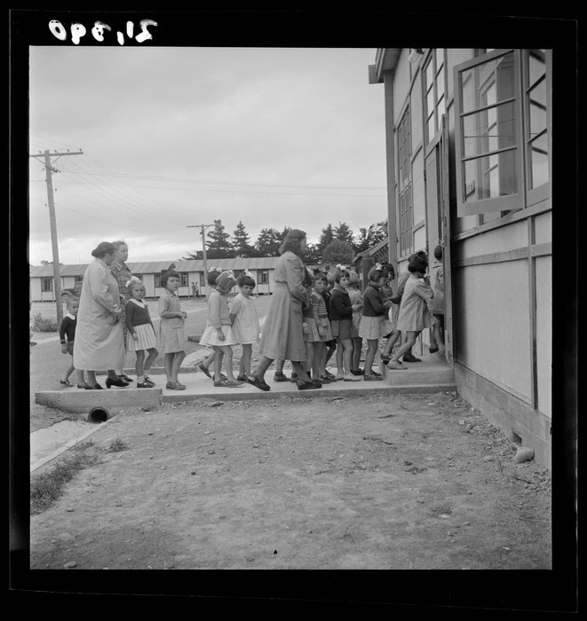
[[[382,287],[385,282],[385,271],[379,263],[369,270],[369,285],[363,295],[363,309],[359,335],[367,339],[367,353],[365,354],[364,381],[382,380],[381,373],[373,371],[373,361],[377,353],[379,339],[393,331],[393,325],[386,317],[392,303],[383,300]]]

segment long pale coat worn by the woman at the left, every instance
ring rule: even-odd
[[[76,369],[123,368],[123,326],[113,314],[120,311],[118,283],[107,264],[97,258],[83,274],[74,341]]]

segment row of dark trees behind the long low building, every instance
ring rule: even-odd
[[[232,236],[226,232],[222,220],[214,220],[214,227],[207,233],[206,256],[209,259],[226,259],[240,256],[249,258],[254,256],[279,256],[279,248],[285,239],[290,227],[282,231],[274,228],[261,229],[257,241],[250,242],[250,235],[242,222],[236,224]],[[360,228],[359,234],[353,231],[345,222],[337,226],[327,224],[322,230],[317,243],[307,244],[305,251],[306,263],[350,263],[353,256],[368,250],[382,240],[387,233],[379,224],[371,224],[367,228]],[[188,252],[182,259],[202,259],[202,250]]]

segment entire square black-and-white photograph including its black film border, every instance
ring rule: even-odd
[[[576,20],[449,17],[12,12],[13,578],[575,611]]]

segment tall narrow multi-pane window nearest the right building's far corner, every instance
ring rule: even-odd
[[[411,252],[414,244],[412,228],[414,215],[412,208],[412,149],[409,109],[401,118],[397,129],[398,141],[398,188],[400,214],[400,255]]]

